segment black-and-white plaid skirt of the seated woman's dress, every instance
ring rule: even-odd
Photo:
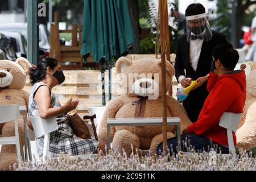
[[[60,152],[65,152],[70,155],[91,154],[98,148],[99,142],[96,139],[82,139],[76,137],[69,121],[65,120],[59,129],[53,131],[49,142],[49,158],[60,156]],[[36,148],[38,155],[43,155],[44,136],[36,139]]]

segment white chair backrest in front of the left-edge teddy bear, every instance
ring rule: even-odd
[[[0,106],[0,123],[18,119],[19,115],[20,113],[18,104]]]

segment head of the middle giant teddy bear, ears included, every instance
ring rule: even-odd
[[[161,61],[140,59],[131,61],[126,57],[118,59],[117,73],[121,73],[123,90],[131,96],[148,97],[154,100],[162,96]],[[166,61],[166,90],[170,88],[174,67]]]

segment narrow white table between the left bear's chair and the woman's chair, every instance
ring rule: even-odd
[[[28,126],[27,126],[27,107],[26,106],[19,106],[20,114],[23,114],[23,123],[24,123],[24,148],[25,148],[25,154],[24,154],[24,161],[27,161],[28,158],[32,161],[32,155],[31,155],[31,146],[30,146],[30,134],[28,132]]]

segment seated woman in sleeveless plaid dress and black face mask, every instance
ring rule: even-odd
[[[47,57],[30,69],[30,80],[34,87],[30,94],[28,114],[31,117],[44,119],[56,117],[59,129],[53,131],[50,137],[49,157],[58,157],[60,152],[71,155],[90,154],[102,150],[105,154],[105,143],[95,139],[81,139],[76,137],[69,125],[66,114],[76,109],[78,101],[70,99],[63,106],[51,92],[52,88],[64,82],[65,76],[61,71],[59,61]],[[43,155],[44,136],[36,139],[39,156]]]

